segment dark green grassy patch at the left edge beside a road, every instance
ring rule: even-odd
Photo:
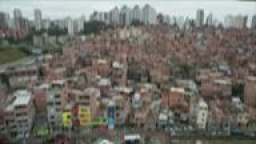
[[[17,61],[26,57],[26,54],[15,48],[0,48],[0,65]]]

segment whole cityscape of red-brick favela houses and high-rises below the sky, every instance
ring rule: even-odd
[[[202,9],[170,18],[150,5],[94,11],[89,22],[21,15],[14,27],[0,21],[5,141],[255,138],[255,16],[251,26]]]

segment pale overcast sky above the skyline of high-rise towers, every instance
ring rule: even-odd
[[[20,8],[22,14],[30,19],[34,18],[35,8],[42,10],[43,18],[78,18],[81,15],[88,18],[94,10],[108,11],[114,6],[120,8],[123,4],[143,6],[146,3],[170,16],[195,18],[196,10],[202,8],[206,15],[212,13],[220,21],[226,14],[245,14],[249,16],[250,22],[252,15],[256,14],[256,2],[234,0],[0,0],[0,10],[12,17],[14,8]]]

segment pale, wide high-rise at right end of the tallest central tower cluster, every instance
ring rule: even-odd
[[[148,4],[142,9],[142,21],[145,25],[155,25],[157,23],[157,12]]]

